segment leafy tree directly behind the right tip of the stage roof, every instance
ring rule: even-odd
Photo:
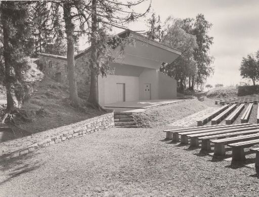
[[[171,64],[162,64],[160,71],[170,77],[174,77],[183,90],[189,77],[196,73],[194,50],[197,48],[196,37],[182,29],[183,21],[168,17],[165,21],[164,35],[161,42],[178,49],[181,56]]]

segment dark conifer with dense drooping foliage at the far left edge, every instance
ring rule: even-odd
[[[30,2],[19,1],[2,1],[0,6],[3,43],[1,56],[4,57],[1,66],[5,70],[5,75],[2,77],[7,92],[6,114],[14,109],[13,94],[19,92],[16,91],[16,84],[23,84],[22,72],[27,69],[25,59],[33,49],[29,8]]]

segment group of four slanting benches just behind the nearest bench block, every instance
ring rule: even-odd
[[[242,112],[242,110],[245,107],[245,104],[241,104],[237,108],[237,104],[233,105],[224,105],[223,107],[213,111],[211,114],[206,115],[202,117],[200,120],[197,121],[197,126],[202,126],[209,121],[211,121],[211,125],[217,125],[220,122],[222,122],[225,118],[226,124],[231,125],[236,118],[239,116],[239,114]],[[241,117],[241,123],[247,123],[252,111],[253,104],[250,103],[248,107],[246,108],[245,112],[243,113]],[[259,110],[259,108],[258,108]],[[259,114],[257,113],[257,123],[259,123]]]

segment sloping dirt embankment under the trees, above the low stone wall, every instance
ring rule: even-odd
[[[18,109],[26,120],[16,116],[15,126],[10,124],[14,133],[1,132],[0,140],[3,142],[31,135],[103,114],[93,108],[86,108],[87,112],[82,112],[70,105],[68,97],[68,85],[45,76],[35,87],[31,98]]]

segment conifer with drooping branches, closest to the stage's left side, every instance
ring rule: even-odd
[[[107,40],[110,40],[109,32],[111,32],[112,27],[126,29],[124,25],[135,21],[137,18],[145,16],[149,11],[150,5],[148,9],[141,14],[136,13],[132,9],[132,7],[140,5],[143,2],[146,2],[146,0],[127,3],[117,0],[92,0],[91,7],[89,7],[91,8],[88,11],[91,13],[91,28],[88,29],[91,42],[91,54],[89,59],[91,68],[91,85],[88,101],[94,106],[99,107],[99,109],[101,109],[101,107],[98,103],[98,75],[106,76],[110,71],[109,62],[114,60],[110,51],[112,48],[108,47],[107,50],[106,43]],[[115,38],[115,41],[116,40],[117,39]],[[114,44],[113,40],[112,42],[109,42],[108,45],[116,44]]]

